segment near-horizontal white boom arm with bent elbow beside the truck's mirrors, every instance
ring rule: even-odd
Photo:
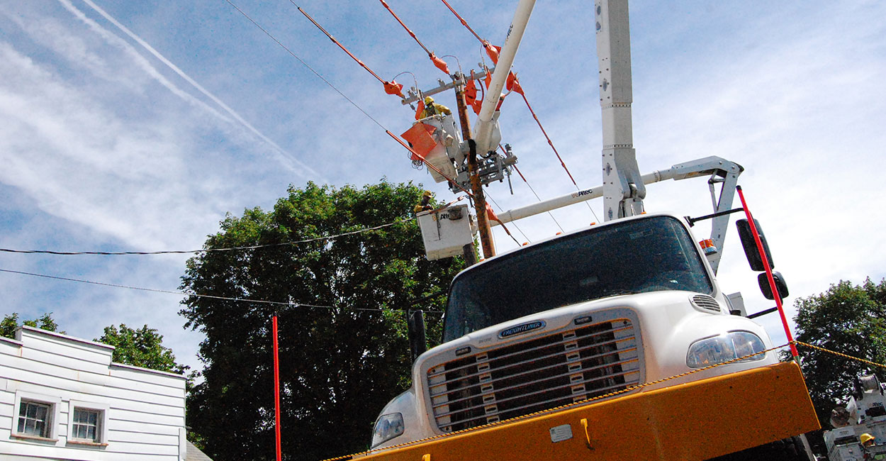
[[[714,194],[714,184],[722,183],[719,199],[715,198],[713,203],[714,212],[720,213],[732,208],[732,201],[735,195],[735,184],[738,184],[738,176],[742,174],[743,170],[744,168],[742,168],[741,165],[733,161],[712,156],[680,163],[668,169],[653,171],[652,173],[640,176],[640,179],[642,185],[658,183],[668,179],[680,181],[681,179],[710,175],[711,179],[708,180],[708,184],[711,185],[711,196]],[[554,199],[547,199],[545,201],[526,205],[525,207],[518,207],[504,211],[498,214],[500,222],[493,221],[492,225],[496,226],[500,223],[510,223],[511,221],[517,221],[517,219],[546,213],[555,210],[556,208],[567,207],[590,199],[597,199],[602,197],[603,190],[604,186],[598,185],[590,189],[574,191],[560,197],[555,197]],[[726,240],[728,224],[728,215],[717,216],[711,220],[711,240],[713,240],[714,246],[719,249],[723,248],[723,242]],[[709,258],[711,268],[715,272],[719,266],[719,257],[720,253],[714,254]]]

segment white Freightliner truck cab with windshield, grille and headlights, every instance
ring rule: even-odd
[[[677,215],[639,215],[463,270],[443,343],[416,359],[371,448],[648,392],[633,387],[735,359],[667,386],[777,363],[764,328],[730,315],[697,242]]]

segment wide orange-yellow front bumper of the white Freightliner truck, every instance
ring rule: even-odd
[[[819,428],[800,369],[790,362],[439,437],[361,459],[703,460]]]

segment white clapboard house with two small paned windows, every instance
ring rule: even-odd
[[[0,459],[185,461],[185,378],[24,326],[0,337]]]

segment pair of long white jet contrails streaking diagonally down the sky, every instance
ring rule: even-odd
[[[94,29],[96,29],[97,32],[99,32],[99,34],[102,35],[105,39],[111,40],[112,39],[111,37],[117,38],[116,35],[111,34],[104,27],[101,27],[100,25],[98,25],[95,21],[89,20],[89,18],[87,18],[85,14],[83,14],[80,10],[78,10],[74,6],[74,4],[71,4],[69,0],[58,0],[58,2],[60,4],[62,4],[69,12],[72,12],[75,16],[77,16],[80,20],[86,22],[90,27],[93,27]],[[180,77],[182,77],[186,82],[189,82],[195,89],[197,89],[200,93],[202,93],[204,96],[206,96],[206,98],[211,99],[216,105],[221,107],[221,109],[225,113],[228,113],[230,115],[230,117],[232,117],[234,120],[239,122],[239,124],[241,126],[243,126],[245,129],[247,129],[248,131],[253,133],[253,135],[255,135],[256,137],[259,137],[262,141],[264,141],[268,145],[270,145],[273,148],[273,151],[279,157],[279,160],[281,160],[284,163],[284,165],[289,167],[293,172],[298,173],[300,176],[303,176],[306,178],[308,176],[314,176],[315,178],[319,178],[324,183],[327,182],[323,178],[323,176],[321,176],[319,173],[317,173],[315,171],[314,168],[308,167],[302,161],[296,159],[291,153],[286,152],[282,147],[280,147],[280,145],[277,145],[274,141],[272,141],[270,138],[268,138],[263,133],[261,133],[258,129],[253,127],[253,125],[251,123],[249,123],[248,121],[245,121],[243,119],[243,117],[240,116],[239,113],[234,111],[234,109],[231,109],[228,105],[226,105],[223,101],[221,101],[221,99],[215,97],[214,94],[210,93],[208,90],[203,88],[202,85],[200,85],[198,82],[194,81],[194,79],[190,78],[190,76],[188,74],[185,74],[182,69],[180,69],[178,66],[175,66],[175,64],[173,64],[172,61],[170,61],[169,59],[166,59],[166,57],[164,57],[162,54],[160,54],[159,51],[155,50],[151,46],[151,44],[145,42],[141,37],[139,37],[138,35],[133,33],[131,30],[129,30],[128,27],[120,24],[120,21],[114,19],[113,16],[111,16],[110,14],[105,12],[105,10],[103,10],[97,4],[94,4],[91,0],[83,0],[83,3],[87,4],[89,6],[89,8],[92,8],[93,11],[100,14],[103,18],[105,18],[105,20],[110,21],[115,27],[120,29],[121,32],[128,35],[129,38],[131,38],[132,40],[135,40],[136,43],[138,43],[139,45],[141,45],[144,48],[144,50],[151,53],[154,58],[159,59],[160,62],[165,64],[167,67],[169,67],[169,69],[171,69],[173,72],[175,72],[175,74],[178,74]],[[123,42],[123,41],[121,41],[121,42]],[[136,54],[136,56],[141,58],[141,55],[139,55],[135,51],[135,49],[132,48],[132,45],[130,45],[129,43],[126,43],[126,42],[123,42],[123,44],[125,44],[127,47],[129,47]],[[193,98],[193,96],[191,96],[190,94],[176,88],[172,82],[169,82],[165,77],[163,77],[161,74],[159,74],[159,72],[157,72],[157,70],[150,63],[148,63],[146,60],[144,60],[144,65],[150,67],[150,70],[146,69],[149,74],[152,74],[152,76],[155,79],[158,79],[161,82],[161,84],[163,84],[164,86],[167,87],[167,89],[169,89],[173,93],[175,93],[175,95],[177,95],[181,98],[185,98],[186,100],[189,100],[190,102],[197,102],[199,105],[203,105],[206,109],[210,110],[211,112],[213,112],[216,115],[218,115],[219,117],[221,117],[221,119],[230,121],[227,117],[223,116],[221,113],[218,113],[218,111],[215,111],[212,107],[206,105],[205,103],[203,103],[199,99]],[[298,168],[296,168],[296,167],[298,167]],[[305,174],[306,171],[307,171],[307,173],[309,173],[309,175]]]

